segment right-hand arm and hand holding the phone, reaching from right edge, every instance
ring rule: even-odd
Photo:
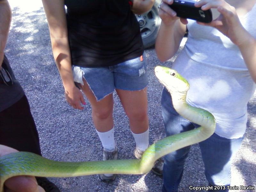
[[[217,8],[220,16],[216,20],[209,24],[198,23],[217,28],[238,46],[252,79],[256,83],[256,39],[242,26],[235,7],[224,0],[201,0],[195,6],[202,6],[202,10]]]

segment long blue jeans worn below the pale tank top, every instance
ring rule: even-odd
[[[172,98],[166,89],[162,94],[162,115],[166,136],[185,132],[199,127],[181,117],[172,106]],[[210,138],[199,143],[205,167],[205,176],[212,186],[230,186],[232,158],[238,151],[244,137],[227,139],[214,133]],[[183,174],[183,167],[191,146],[181,148],[164,157],[164,185],[162,192],[177,192]],[[189,190],[189,186],[188,186]],[[222,190],[228,191],[227,187]]]

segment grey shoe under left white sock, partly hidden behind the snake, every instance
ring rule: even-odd
[[[117,159],[117,148],[114,151],[109,152],[103,149],[103,161]],[[100,174],[100,179],[104,182],[111,182],[115,180],[116,174]]]

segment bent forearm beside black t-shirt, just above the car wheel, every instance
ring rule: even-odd
[[[155,0],[131,0],[131,1],[133,3],[131,10],[134,14],[138,14],[138,15],[149,11],[155,3]]]

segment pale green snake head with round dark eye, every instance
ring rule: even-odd
[[[174,69],[156,66],[155,74],[160,83],[170,92],[186,93],[189,89],[188,81]]]

